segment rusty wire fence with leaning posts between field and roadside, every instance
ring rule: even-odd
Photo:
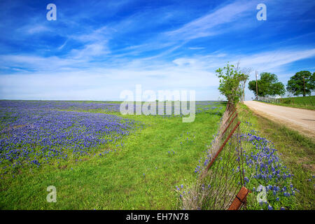
[[[240,121],[234,104],[228,104],[221,127],[208,150],[204,169],[190,195],[183,198],[184,209],[246,209]]]

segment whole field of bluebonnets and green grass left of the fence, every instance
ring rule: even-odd
[[[0,101],[1,209],[176,209],[225,104],[122,116],[119,102]],[[57,188],[48,203],[46,188]]]

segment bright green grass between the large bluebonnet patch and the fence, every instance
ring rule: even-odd
[[[179,117],[124,116],[145,128],[121,139],[118,148],[106,145],[94,156],[4,176],[0,209],[177,209],[175,186],[195,179],[198,158],[225,110],[219,106],[221,110],[197,113],[193,123]],[[108,149],[113,151],[99,156]],[[57,188],[57,203],[46,201],[48,186]]]

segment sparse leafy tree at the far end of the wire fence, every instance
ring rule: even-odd
[[[218,90],[221,94],[225,95],[228,102],[232,102],[234,104],[239,102],[242,92],[239,82],[241,80],[246,80],[246,75],[239,71],[238,66],[235,67],[232,64],[228,64],[227,66],[224,66],[223,69],[217,69],[216,76],[220,78]]]

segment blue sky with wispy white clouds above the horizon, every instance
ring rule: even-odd
[[[119,100],[141,84],[217,100],[215,70],[227,62],[286,85],[315,71],[314,11],[304,0],[1,1],[0,99]]]

